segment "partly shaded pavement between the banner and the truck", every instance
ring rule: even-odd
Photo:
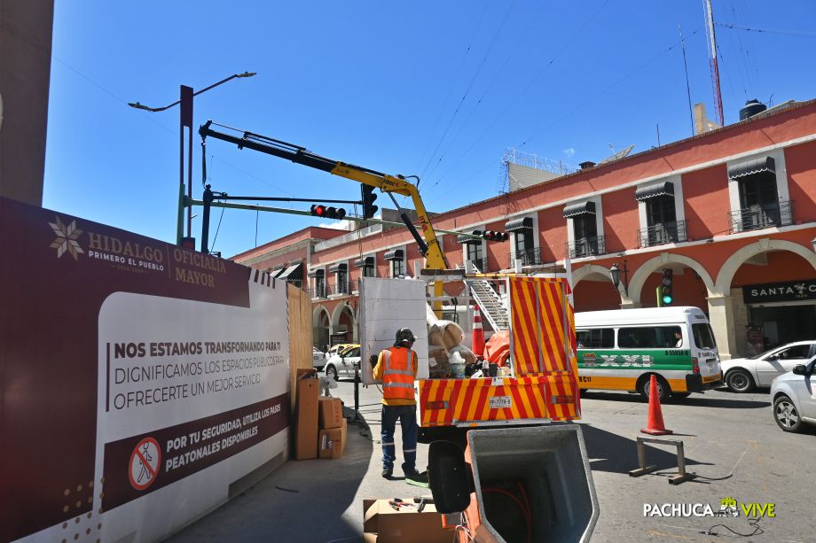
[[[344,400],[353,417],[353,385],[341,383],[333,395]],[[350,400],[350,401],[349,401]],[[393,480],[381,477],[379,391],[361,388],[363,425],[349,423],[349,442],[337,460],[290,460],[222,507],[168,539],[193,542],[334,542],[362,541],[363,500],[412,498],[428,489],[408,485],[399,470],[401,432],[396,431],[397,466]],[[370,424],[371,430],[365,428]],[[398,427],[397,427],[398,428]],[[417,448],[417,469],[428,464],[428,446]]]

